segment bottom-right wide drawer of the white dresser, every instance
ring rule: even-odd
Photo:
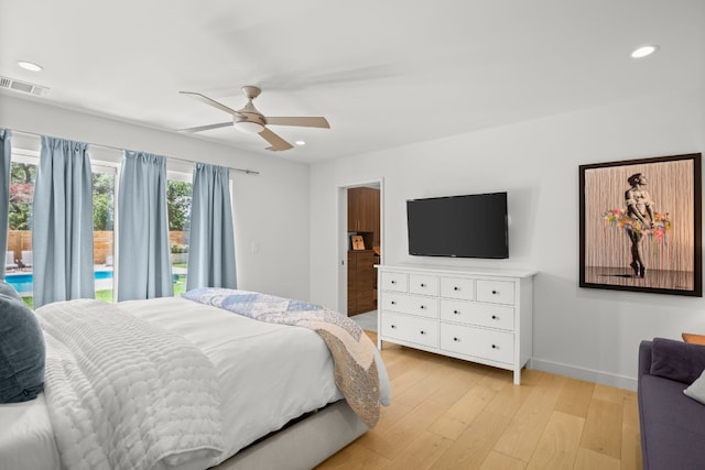
[[[514,360],[514,335],[441,324],[441,349],[511,364]]]

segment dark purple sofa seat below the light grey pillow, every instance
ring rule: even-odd
[[[696,469],[705,461],[705,406],[683,394],[685,385],[644,375],[639,386],[644,468]]]

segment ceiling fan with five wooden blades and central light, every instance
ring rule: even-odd
[[[270,131],[267,125],[297,125],[305,128],[326,128],[329,129],[330,125],[326,118],[322,117],[288,117],[288,118],[272,118],[265,117],[260,111],[254,108],[252,105],[252,100],[260,96],[262,90],[254,86],[245,86],[241,88],[242,92],[247,97],[247,105],[242,109],[235,110],[229,108],[214,99],[208,98],[205,95],[194,92],[194,91],[180,91],[182,95],[188,95],[193,98],[196,98],[199,101],[205,102],[206,105],[210,105],[215,108],[218,108],[221,111],[225,111],[229,114],[232,114],[232,120],[228,122],[220,122],[217,124],[208,124],[200,125],[197,128],[188,128],[181,129],[180,132],[200,132],[207,131],[210,129],[226,128],[228,125],[235,127],[240,132],[246,132],[249,134],[260,134],[262,139],[270,143],[271,146],[267,147],[267,150],[271,151],[281,151],[293,149],[293,145],[286,142],[284,139],[276,135],[274,132]]]

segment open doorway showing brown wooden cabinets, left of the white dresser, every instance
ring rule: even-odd
[[[338,310],[348,317],[377,309],[377,269],[383,254],[382,181],[339,187]]]

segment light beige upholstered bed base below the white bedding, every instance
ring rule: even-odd
[[[346,401],[340,400],[245,448],[214,469],[311,470],[367,430]]]

